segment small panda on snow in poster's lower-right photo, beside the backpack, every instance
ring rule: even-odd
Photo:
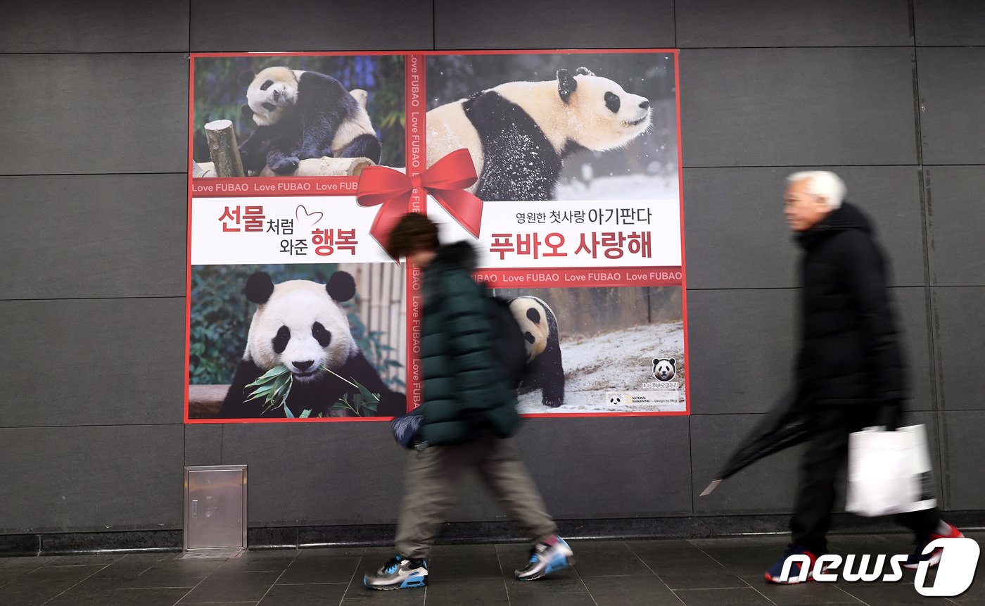
[[[558,318],[551,307],[537,297],[517,297],[509,302],[509,310],[520,325],[527,348],[527,369],[520,382],[520,391],[541,389],[544,405],[557,408],[564,403]]]

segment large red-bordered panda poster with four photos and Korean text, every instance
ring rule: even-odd
[[[677,59],[192,54],[185,421],[420,405],[412,211],[510,302],[522,414],[689,414]]]

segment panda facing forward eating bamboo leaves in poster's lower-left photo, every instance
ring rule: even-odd
[[[356,281],[351,274],[337,271],[327,285],[309,280],[275,285],[268,274],[256,272],[246,281],[245,291],[246,299],[257,303],[257,308],[246,337],[246,352],[236,368],[220,417],[299,418],[305,410],[311,411],[310,417],[319,413],[332,416],[336,402],[344,396],[352,402],[360,393],[352,382],[379,394],[377,416],[406,412],[407,397],[383,384],[353,339],[342,308],[342,303],[356,294]],[[280,365],[293,374],[285,404],[290,415],[281,408],[265,410],[262,398],[247,401],[250,394],[246,386]]]

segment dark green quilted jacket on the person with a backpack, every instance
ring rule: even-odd
[[[492,302],[472,273],[476,253],[466,241],[438,248],[423,278],[422,438],[456,444],[516,431],[516,392],[493,356]]]

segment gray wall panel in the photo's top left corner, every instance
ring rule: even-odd
[[[34,0],[4,13],[0,52],[188,50],[187,0]]]

